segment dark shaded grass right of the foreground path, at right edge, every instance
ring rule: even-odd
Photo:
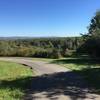
[[[100,68],[85,68],[76,72],[87,80],[92,92],[100,94]]]

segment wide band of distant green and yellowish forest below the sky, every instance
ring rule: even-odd
[[[59,58],[71,56],[82,44],[81,37],[4,38],[0,39],[0,56]]]

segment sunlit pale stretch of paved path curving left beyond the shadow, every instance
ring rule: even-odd
[[[24,58],[24,57],[1,57],[0,60],[4,61],[12,61],[21,63],[31,67],[35,70],[36,75],[44,75],[51,74],[57,72],[66,72],[68,69],[61,67],[56,64],[49,64],[48,62],[43,61],[33,61],[32,58]]]

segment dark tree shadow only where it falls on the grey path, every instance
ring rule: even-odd
[[[31,86],[31,93],[46,92],[46,97],[51,100],[58,100],[55,96],[61,94],[77,100],[85,98],[87,92],[86,83],[74,72],[59,72],[34,77]]]

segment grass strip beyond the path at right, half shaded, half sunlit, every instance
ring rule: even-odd
[[[83,70],[85,68],[100,67],[100,60],[91,58],[64,58],[53,60],[51,63],[60,64],[71,70]]]

